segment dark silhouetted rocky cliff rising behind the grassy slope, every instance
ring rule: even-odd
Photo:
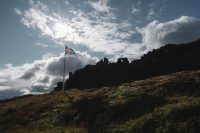
[[[131,63],[126,58],[109,63],[105,58],[96,65],[88,65],[70,73],[65,88],[99,88],[200,68],[200,40],[187,44],[168,44],[148,52]]]

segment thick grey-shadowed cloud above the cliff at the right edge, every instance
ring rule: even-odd
[[[153,21],[137,31],[143,36],[143,44],[148,50],[165,44],[185,43],[200,37],[200,19],[182,16],[175,20],[161,23]]]

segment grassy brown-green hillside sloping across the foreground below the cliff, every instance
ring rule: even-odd
[[[200,132],[200,71],[0,103],[1,133]]]

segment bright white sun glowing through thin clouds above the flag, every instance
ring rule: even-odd
[[[68,26],[66,23],[57,22],[53,26],[55,38],[63,38],[67,35],[70,35],[74,29],[71,26]]]

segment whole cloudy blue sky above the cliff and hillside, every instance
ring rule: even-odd
[[[200,38],[199,0],[1,0],[0,99],[50,92],[107,57],[115,61]]]

